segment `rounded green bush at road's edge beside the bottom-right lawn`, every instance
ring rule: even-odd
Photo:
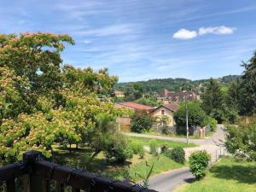
[[[190,172],[197,178],[201,179],[206,176],[207,166],[211,160],[210,154],[207,151],[195,151],[189,157]]]

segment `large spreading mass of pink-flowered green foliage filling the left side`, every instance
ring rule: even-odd
[[[52,33],[0,35],[0,158],[31,149],[50,157],[53,143],[106,150],[100,146],[126,113],[108,99],[117,78],[108,69],[62,67],[65,43],[74,44]]]

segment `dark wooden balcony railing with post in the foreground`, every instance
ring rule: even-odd
[[[7,192],[15,192],[15,180],[27,175],[26,191],[49,192],[51,181],[55,181],[55,191],[64,192],[71,186],[73,192],[80,189],[86,192],[155,192],[139,185],[113,181],[108,177],[97,176],[90,172],[73,170],[46,160],[38,151],[23,154],[23,160],[0,168],[0,183],[6,183]]]

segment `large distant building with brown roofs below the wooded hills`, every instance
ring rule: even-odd
[[[200,96],[196,95],[195,92],[189,90],[183,90],[183,91],[169,91],[164,89],[162,93],[160,93],[160,96],[158,97],[158,100],[168,103],[168,102],[184,102],[184,101],[197,101],[200,100]]]

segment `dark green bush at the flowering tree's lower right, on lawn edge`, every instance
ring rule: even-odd
[[[131,159],[132,152],[126,137],[121,134],[115,134],[108,143],[106,156],[108,159],[114,158],[118,163],[125,163],[125,160]]]

